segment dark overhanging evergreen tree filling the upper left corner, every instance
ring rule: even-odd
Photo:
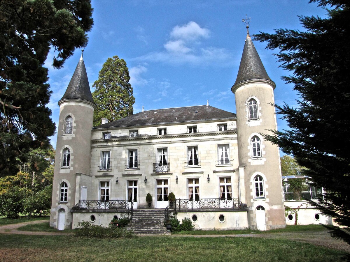
[[[90,0],[0,1],[0,176],[16,174],[31,149],[46,147],[55,124],[44,62],[60,68],[87,44]]]

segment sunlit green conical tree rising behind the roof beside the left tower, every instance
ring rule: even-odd
[[[129,70],[124,59],[118,56],[108,58],[92,86],[95,88],[92,97],[97,104],[93,112],[94,126],[101,124],[103,117],[114,121],[133,114],[135,97],[129,81]]]

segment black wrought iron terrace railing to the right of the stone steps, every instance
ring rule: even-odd
[[[200,199],[176,199],[175,209],[176,211],[187,209],[246,209],[247,204],[238,201],[238,197],[231,199],[221,198],[200,198]]]

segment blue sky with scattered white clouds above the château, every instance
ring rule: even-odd
[[[145,110],[209,104],[236,112],[231,87],[236,80],[246,37],[242,19],[251,18],[249,32],[273,33],[277,28],[300,29],[298,15],[325,16],[308,0],[92,0],[94,26],[84,49],[92,85],[107,58],[119,56],[129,68],[134,90],[134,114]],[[269,77],[276,83],[275,102],[295,105],[293,86],[280,79],[289,73],[278,67],[266,43],[254,42]],[[62,98],[81,55],[64,67],[52,68],[52,52],[45,65],[53,92],[49,103],[58,123]],[[288,129],[278,119],[278,129]],[[56,145],[56,136],[51,144]]]

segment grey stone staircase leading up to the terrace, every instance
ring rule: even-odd
[[[135,234],[171,234],[164,226],[164,209],[134,209],[133,218],[126,227]]]

